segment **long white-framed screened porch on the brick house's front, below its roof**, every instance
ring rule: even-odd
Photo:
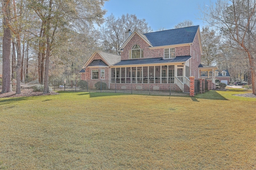
[[[110,83],[189,84],[189,67],[184,65],[115,67],[110,75]]]

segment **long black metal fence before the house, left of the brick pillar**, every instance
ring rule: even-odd
[[[189,88],[184,85],[179,88],[177,84],[151,84],[151,83],[110,83],[99,81],[73,80],[64,84],[54,84],[54,90],[72,90],[74,92],[100,92],[100,93],[123,93],[123,94],[146,94],[146,95],[179,95],[189,96]]]

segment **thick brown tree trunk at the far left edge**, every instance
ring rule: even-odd
[[[7,7],[7,8],[6,8]],[[6,8],[6,16],[10,17],[9,11],[10,4],[6,4],[6,0],[2,0],[2,8]],[[4,17],[3,20],[3,28],[4,28],[4,36],[3,36],[3,77],[2,77],[2,92],[8,93],[12,92],[12,58],[11,58],[11,43],[12,43],[12,35],[11,30],[8,27],[7,21],[9,18]]]

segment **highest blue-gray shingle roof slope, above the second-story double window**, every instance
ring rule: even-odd
[[[153,47],[192,43],[199,25],[144,33]]]

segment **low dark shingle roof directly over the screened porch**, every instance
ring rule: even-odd
[[[150,59],[130,59],[130,60],[122,60],[119,63],[114,64],[114,66],[134,65],[134,64],[178,63],[178,62],[186,62],[190,58],[191,56],[178,56],[174,59],[163,59],[162,57],[150,58]]]

